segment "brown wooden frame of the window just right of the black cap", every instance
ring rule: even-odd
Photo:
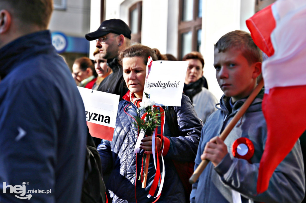
[[[138,9],[137,33],[131,34],[131,43],[141,42],[142,1],[136,2],[129,8],[129,27],[131,28],[132,11]]]

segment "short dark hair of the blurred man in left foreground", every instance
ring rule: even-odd
[[[53,0],[1,0],[1,5],[24,23],[21,27],[35,24],[47,29],[53,11]]]

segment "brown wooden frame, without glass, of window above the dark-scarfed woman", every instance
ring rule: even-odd
[[[199,0],[193,0],[193,12],[191,21],[183,21],[183,0],[179,2],[179,15],[178,15],[178,48],[177,58],[181,60],[182,56],[182,34],[192,31],[192,46],[191,50],[196,51],[197,48],[197,31],[202,29],[202,17],[198,17]]]

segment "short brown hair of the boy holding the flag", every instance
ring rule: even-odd
[[[219,52],[226,52],[231,48],[241,50],[249,64],[263,61],[261,50],[256,46],[251,35],[245,31],[231,31],[223,35],[215,44],[215,49]]]

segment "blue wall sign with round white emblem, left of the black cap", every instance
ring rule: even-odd
[[[89,53],[89,41],[84,37],[67,36],[62,32],[51,33],[52,45],[56,51],[61,54],[64,52],[69,53]]]

